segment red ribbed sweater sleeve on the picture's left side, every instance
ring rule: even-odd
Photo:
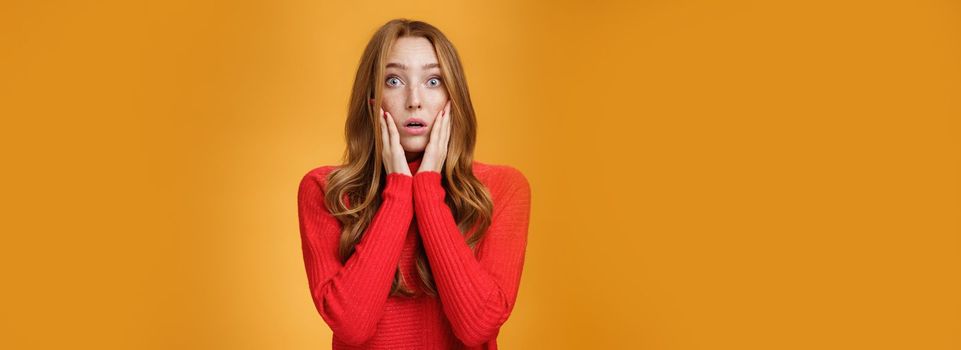
[[[308,173],[298,190],[300,236],[314,306],[343,342],[360,345],[376,331],[413,219],[410,175],[390,173],[383,201],[346,264],[338,259],[341,224],[330,214],[320,186]]]

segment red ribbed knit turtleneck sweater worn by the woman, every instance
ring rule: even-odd
[[[337,349],[496,349],[497,334],[517,298],[527,229],[530,186],[507,165],[474,161],[491,193],[493,220],[477,254],[457,227],[441,174],[390,173],[380,208],[346,264],[338,260],[341,224],[323,201],[321,166],[301,180],[300,234],[314,306],[333,331]],[[424,249],[438,297],[422,293],[415,254]],[[396,270],[415,297],[390,296]]]

